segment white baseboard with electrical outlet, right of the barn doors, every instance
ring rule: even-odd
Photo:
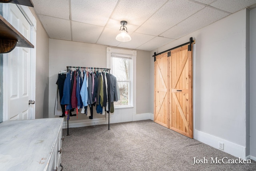
[[[246,147],[243,147],[242,145],[238,145],[235,143],[232,143],[230,141],[227,141],[225,139],[221,139],[219,137],[215,137],[213,135],[210,135],[208,133],[204,133],[202,131],[194,130],[194,139],[205,143],[207,145],[210,145],[216,149],[219,149],[219,142],[224,143],[224,151],[228,154],[234,155],[235,157],[240,157],[241,159],[246,159]],[[214,157],[214,156],[212,156]]]

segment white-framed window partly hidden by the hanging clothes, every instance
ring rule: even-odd
[[[107,67],[116,77],[120,100],[115,107],[134,107],[136,100],[136,54],[134,50],[107,48]]]

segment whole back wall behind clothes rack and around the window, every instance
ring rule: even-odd
[[[54,102],[56,97],[56,81],[58,72],[66,70],[66,66],[85,66],[106,68],[106,47],[103,45],[87,44],[80,42],[71,42],[65,40],[50,39],[50,58],[49,58],[49,117],[54,117]],[[136,116],[138,119],[149,119],[149,72],[150,72],[150,52],[137,50],[137,67],[136,67]],[[95,111],[95,110],[94,110]],[[126,110],[129,111],[129,110]],[[146,117],[145,117],[146,115]],[[143,116],[143,117],[141,117]],[[93,118],[104,118],[105,115],[94,112]],[[132,110],[129,113],[124,113],[123,110],[116,109],[114,115],[111,115],[110,123],[132,121],[134,116]],[[130,120],[132,119],[132,120]],[[70,121],[78,126],[85,126],[77,123],[82,120],[86,122],[88,117],[83,114],[78,114],[76,117],[71,117]],[[102,121],[102,120],[100,120]],[[99,122],[100,122],[99,121]],[[112,122],[111,122],[112,121]],[[94,121],[94,123],[97,121]],[[93,123],[88,123],[93,124]],[[76,127],[74,125],[74,127]],[[72,125],[71,125],[72,126]]]

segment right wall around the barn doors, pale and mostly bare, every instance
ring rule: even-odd
[[[189,42],[190,37],[196,41],[193,52],[194,138],[216,148],[221,141],[224,151],[245,158],[246,10],[151,51],[151,55]],[[151,61],[150,85],[154,86],[154,62]],[[150,112],[153,113],[152,107]]]

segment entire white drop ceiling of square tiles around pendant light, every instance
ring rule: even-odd
[[[256,0],[32,0],[50,38],[151,51]],[[120,21],[130,42],[118,42]]]

